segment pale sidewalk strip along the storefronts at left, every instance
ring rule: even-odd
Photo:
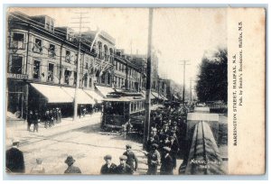
[[[5,146],[10,147],[13,139],[19,139],[20,145],[23,146],[27,143],[35,142],[35,138],[41,139],[42,137],[48,137],[58,135],[61,133],[69,132],[73,129],[77,129],[89,124],[91,120],[100,120],[101,114],[96,113],[93,115],[86,115],[79,118],[76,122],[71,117],[62,118],[60,124],[55,124],[51,128],[44,128],[44,123],[39,124],[39,132],[33,133],[33,124],[31,126],[31,132],[27,131],[27,122],[23,120],[7,120],[5,124]]]

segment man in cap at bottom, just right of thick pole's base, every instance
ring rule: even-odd
[[[160,165],[160,153],[157,151],[158,144],[154,143],[152,145],[151,152],[145,154],[147,156],[147,163],[148,163],[148,170],[147,174],[149,175],[156,175],[157,174],[157,167]]]

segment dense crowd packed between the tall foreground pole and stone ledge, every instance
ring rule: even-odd
[[[192,106],[167,106],[151,114],[151,133],[146,143],[147,174],[171,175],[177,167],[177,158],[186,152],[186,116]]]

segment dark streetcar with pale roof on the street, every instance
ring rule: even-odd
[[[103,99],[101,128],[104,131],[123,129],[126,124],[137,132],[143,131],[145,122],[145,97],[141,93],[111,92]]]

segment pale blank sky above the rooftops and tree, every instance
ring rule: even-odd
[[[126,53],[147,53],[147,8],[16,8],[28,15],[46,14],[56,26],[74,27],[78,12],[86,30],[103,30],[116,39],[117,49]],[[10,11],[14,11],[11,9]],[[218,48],[227,48],[227,9],[222,8],[155,8],[153,16],[153,51],[159,59],[159,75],[183,82],[180,60],[189,60],[185,70],[186,86],[196,78],[201,58]],[[77,28],[74,28],[75,30]]]

